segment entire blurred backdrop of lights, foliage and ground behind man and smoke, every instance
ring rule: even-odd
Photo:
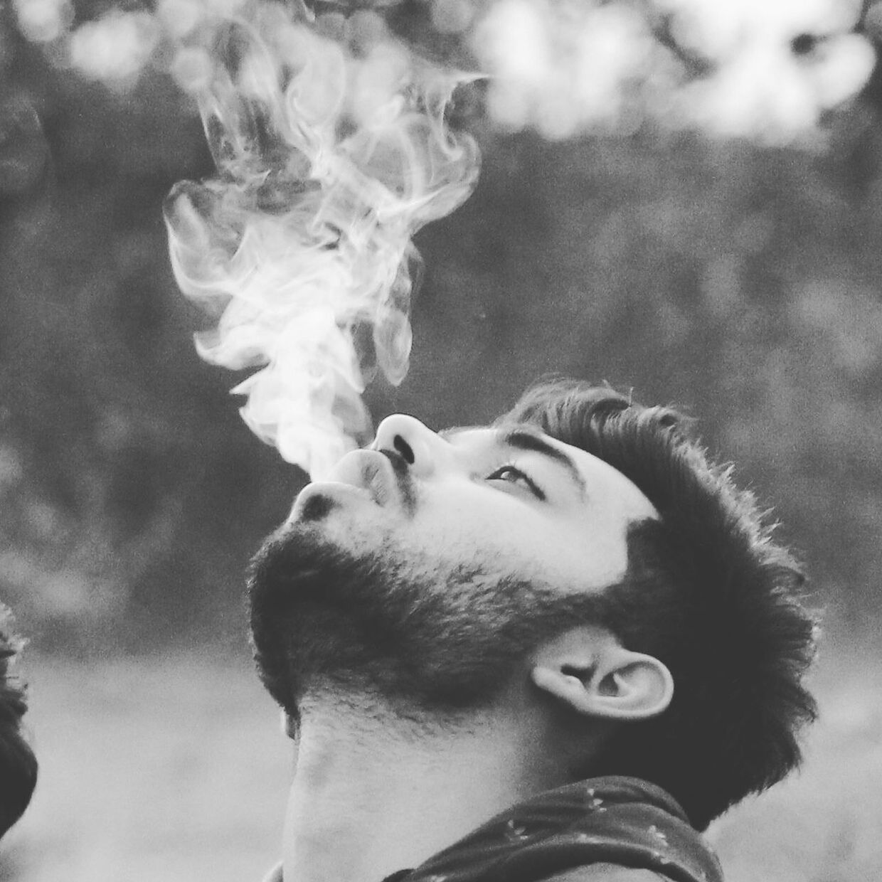
[[[304,475],[199,361],[161,216],[213,174],[188,34],[237,5],[0,4],[0,597],[41,761],[0,879],[234,882],[278,852],[243,569]],[[549,371],[694,415],[826,607],[804,771],[714,825],[727,878],[882,878],[882,3],[315,11],[491,75],[456,108],[477,191],[417,236],[412,368],[370,387],[375,421],[484,422]]]

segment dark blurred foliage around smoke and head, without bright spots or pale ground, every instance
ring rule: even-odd
[[[110,9],[77,4],[63,26]],[[862,40],[874,11],[849,26]],[[427,51],[474,57],[425,3],[388,15]],[[802,36],[797,54],[813,51]],[[205,139],[168,64],[123,88],[71,68],[60,40],[0,6],[0,594],[48,647],[239,639],[243,568],[303,475],[198,361],[204,319],[168,266],[162,199],[212,173]],[[370,389],[375,418],[482,422],[547,371],[676,403],[774,502],[826,601],[878,618],[877,71],[818,106],[799,146],[627,114],[549,141],[469,108],[482,179],[418,237],[413,366]]]

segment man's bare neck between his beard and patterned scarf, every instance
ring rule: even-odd
[[[564,783],[542,721],[511,708],[432,723],[363,697],[303,703],[288,882],[381,882]]]

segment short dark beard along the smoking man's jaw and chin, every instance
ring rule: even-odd
[[[400,714],[478,710],[526,672],[544,639],[602,624],[602,594],[561,594],[486,565],[414,557],[355,555],[303,522],[259,549],[251,641],[261,679],[292,721],[304,694],[327,686],[375,695]]]

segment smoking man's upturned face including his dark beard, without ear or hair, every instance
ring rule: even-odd
[[[629,525],[654,517],[624,475],[533,427],[436,434],[395,415],[258,553],[255,642],[288,658],[295,700],[330,679],[475,705],[590,619],[627,570]]]

